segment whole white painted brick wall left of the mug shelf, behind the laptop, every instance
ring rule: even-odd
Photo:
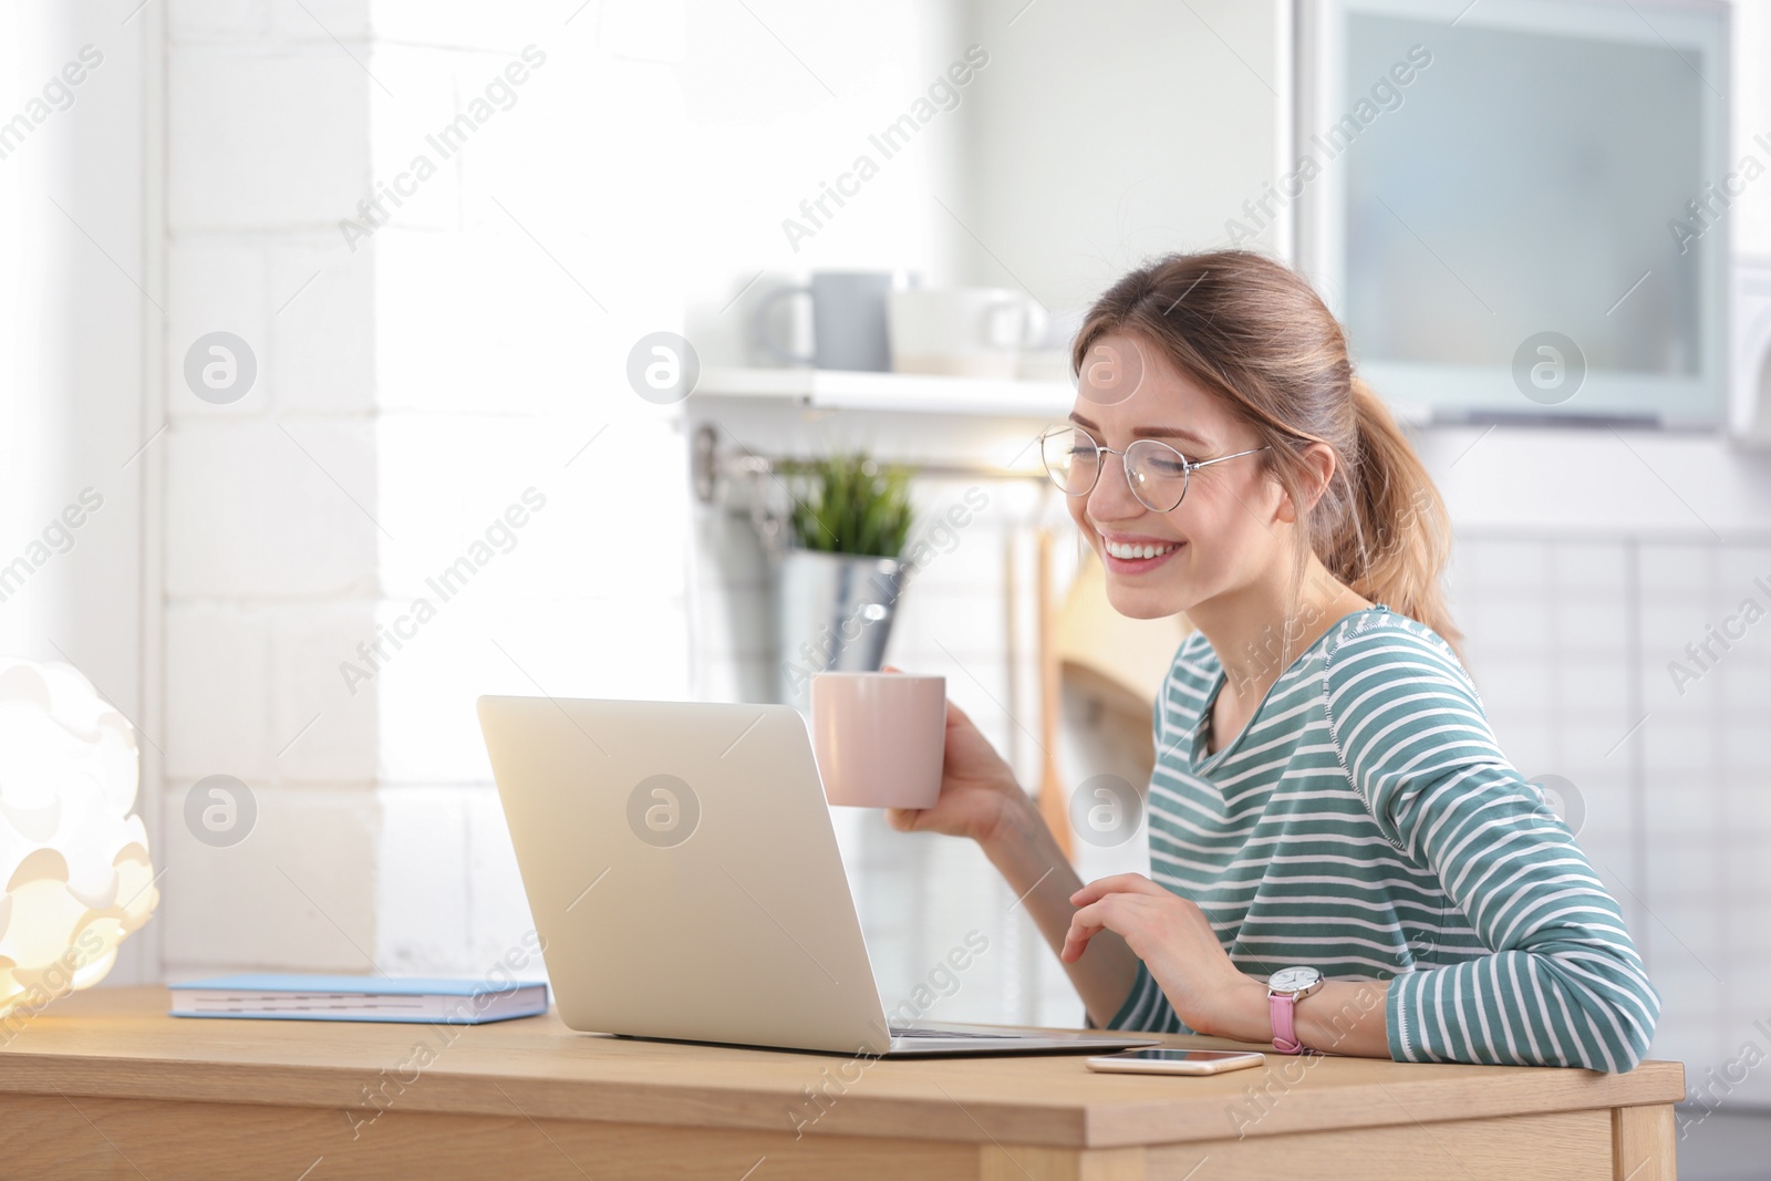
[[[473,699],[685,692],[682,437],[620,375],[680,319],[689,191],[607,182],[682,138],[682,9],[599,42],[600,9],[168,12],[172,976],[483,970],[528,919]],[[441,159],[425,136],[526,44],[547,62]],[[437,174],[349,243],[420,152]],[[182,382],[209,331],[259,363],[230,405]],[[425,579],[530,487],[545,508],[443,602]],[[437,614],[395,648],[421,595]],[[351,692],[342,662],[372,676]],[[260,806],[225,850],[181,820],[218,772]]]

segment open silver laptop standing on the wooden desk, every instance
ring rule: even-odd
[[[1155,1038],[887,1018],[811,735],[786,705],[480,698],[560,1016],[584,1032],[871,1057]]]

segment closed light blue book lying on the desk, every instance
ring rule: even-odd
[[[244,972],[172,984],[172,1016],[480,1025],[547,1011],[547,984]]]

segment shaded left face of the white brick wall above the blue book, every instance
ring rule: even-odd
[[[372,970],[375,953],[375,701],[328,701],[313,660],[363,630],[379,591],[368,255],[331,235],[367,182],[372,83],[310,18],[290,35],[290,11],[186,2],[168,14],[172,977]],[[313,11],[351,35],[342,5]],[[259,374],[243,398],[211,405],[182,363],[221,329],[246,340]],[[228,848],[184,829],[184,795],[211,774],[237,776],[259,807]]]

